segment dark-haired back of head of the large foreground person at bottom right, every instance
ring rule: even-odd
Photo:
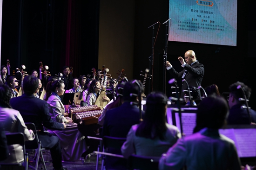
[[[216,95],[204,98],[197,109],[197,130],[194,130],[194,132],[198,132],[205,127],[220,129],[226,123],[228,113],[229,107],[224,98]]]

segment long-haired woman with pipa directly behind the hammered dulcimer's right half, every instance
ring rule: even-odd
[[[97,97],[99,96],[101,91],[101,82],[98,80],[94,80],[92,81],[92,83],[90,84],[90,87],[88,89],[88,94],[87,94],[87,103],[88,106],[94,105],[95,101],[97,99]],[[102,92],[105,93],[105,92]],[[107,96],[103,97],[104,101],[110,101],[109,98]]]

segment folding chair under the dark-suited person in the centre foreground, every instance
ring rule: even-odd
[[[126,141],[126,138],[116,138],[116,137],[110,137],[110,136],[103,137],[103,152],[111,153],[114,150],[115,154],[105,154],[106,156],[102,158],[102,161],[101,161],[101,170],[103,170],[104,166],[106,170],[115,169],[115,167],[109,166],[108,164],[105,163],[106,158],[108,156],[119,157],[119,158],[116,158],[118,159],[116,161],[122,161],[124,164],[127,164],[126,163],[127,160],[123,158],[121,155],[121,147],[125,141]]]

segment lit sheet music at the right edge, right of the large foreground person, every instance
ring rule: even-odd
[[[239,157],[256,157],[256,129],[220,129],[219,132],[234,140]]]

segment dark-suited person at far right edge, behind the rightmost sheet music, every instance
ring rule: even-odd
[[[238,86],[243,88],[246,98],[249,100],[251,95],[251,89],[246,86],[243,82],[236,82],[229,86],[229,125],[237,124],[250,124],[251,122],[256,123],[256,111],[249,109],[249,113],[245,108],[245,101],[240,101],[239,98],[244,99],[242,89],[237,89]],[[251,118],[251,120],[250,120]]]

